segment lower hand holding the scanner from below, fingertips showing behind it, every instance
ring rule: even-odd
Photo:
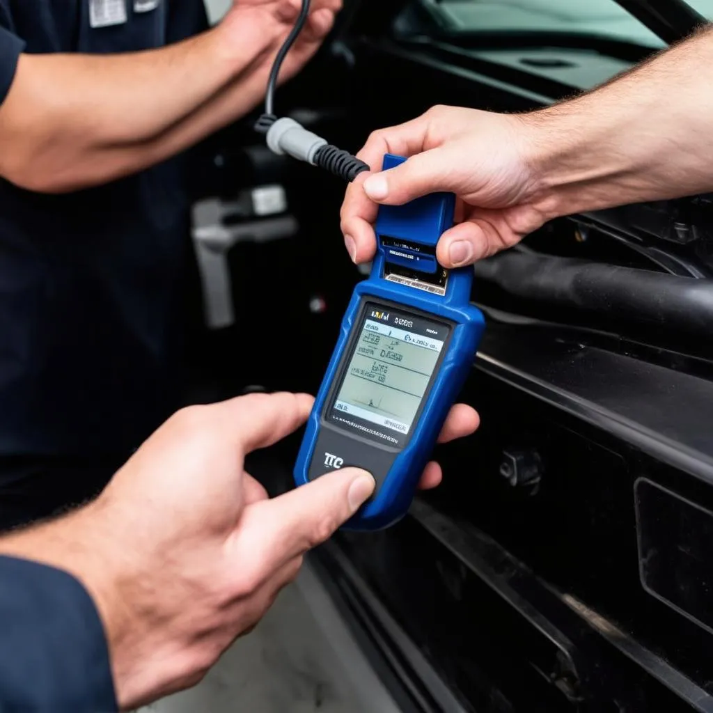
[[[243,471],[247,453],[304,424],[313,399],[252,394],[169,419],[93,503],[14,533],[4,554],[75,575],[101,614],[121,707],[197,683],[292,581],[307,550],[374,491],[355,468],[273,500]],[[443,441],[478,425],[456,406]],[[421,485],[441,471],[426,468]]]

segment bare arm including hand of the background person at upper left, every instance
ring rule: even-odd
[[[105,183],[188,148],[250,111],[289,29],[282,0],[241,3],[215,29],[153,51],[21,56],[0,106],[0,175],[61,193]],[[289,3],[288,3],[289,4]],[[340,0],[317,0],[285,67],[296,72]]]

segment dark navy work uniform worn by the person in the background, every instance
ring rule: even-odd
[[[93,3],[125,21],[96,26]],[[0,0],[0,103],[22,51],[143,50],[206,26],[202,0]],[[71,195],[0,179],[0,529],[96,493],[180,405],[188,173],[181,156]]]

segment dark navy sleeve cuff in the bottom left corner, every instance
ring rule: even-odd
[[[73,577],[0,557],[0,632],[0,711],[116,712],[103,626]]]

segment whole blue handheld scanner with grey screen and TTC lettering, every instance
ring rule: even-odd
[[[404,160],[386,155],[384,170]],[[473,269],[436,260],[454,206],[454,195],[434,193],[379,208],[371,275],[354,289],[309,416],[298,486],[347,466],[376,479],[346,529],[379,530],[406,514],[478,349]]]

